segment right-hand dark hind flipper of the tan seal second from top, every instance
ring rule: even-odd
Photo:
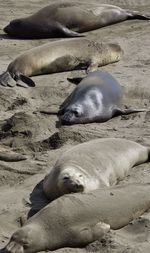
[[[21,86],[24,88],[35,87],[35,82],[33,82],[33,80],[28,76],[19,74],[15,77],[15,80],[16,80],[17,86]]]

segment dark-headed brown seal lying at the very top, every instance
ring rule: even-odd
[[[29,17],[15,19],[4,31],[19,38],[76,37],[82,32],[135,18],[150,19],[150,15],[114,5],[68,1],[51,4]]]

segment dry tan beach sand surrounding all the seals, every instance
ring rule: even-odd
[[[90,0],[85,0],[87,2]],[[51,41],[18,40],[4,36],[2,28],[16,17],[35,12],[54,0],[0,0],[0,72],[19,53]],[[150,13],[149,0],[95,0]],[[150,107],[150,21],[130,20],[87,33],[96,41],[118,42],[123,59],[103,67],[124,88],[124,105]],[[13,150],[27,156],[20,162],[0,161],[0,247],[20,226],[19,217],[44,206],[46,199],[40,181],[50,171],[59,155],[72,145],[97,137],[122,137],[150,144],[150,112],[120,116],[106,123],[74,125],[58,128],[57,117],[40,114],[41,108],[60,105],[74,89],[67,77],[82,71],[34,77],[35,88],[0,87],[0,149]],[[121,183],[150,182],[150,164],[133,168]],[[85,249],[60,249],[56,252],[148,253],[150,248],[150,214],[118,231],[111,231],[100,242]]]

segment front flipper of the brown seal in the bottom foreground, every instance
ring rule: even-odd
[[[101,239],[109,230],[109,224],[98,222],[94,226],[85,226],[82,230],[79,231],[76,239],[78,240],[79,246],[84,246]]]

